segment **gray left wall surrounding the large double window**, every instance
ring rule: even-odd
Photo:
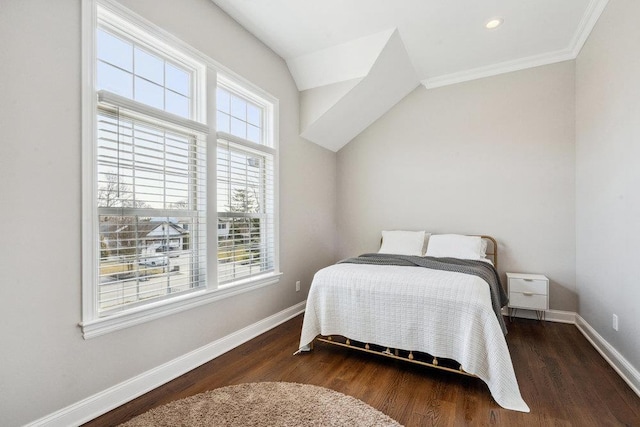
[[[277,286],[82,338],[80,4],[0,6],[3,426],[48,415],[295,305],[313,273],[335,260],[336,155],[298,137],[298,92],[285,62],[210,0],[127,0],[280,99],[284,276]]]

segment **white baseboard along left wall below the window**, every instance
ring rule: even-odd
[[[80,425],[197,368],[304,312],[306,301],[280,311],[163,365],[40,418],[27,427]]]

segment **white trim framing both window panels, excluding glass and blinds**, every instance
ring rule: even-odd
[[[98,28],[98,5],[109,13],[109,19],[118,20],[125,26],[131,28],[132,33],[145,34],[159,40],[163,44],[171,46],[171,54],[189,60],[194,58],[196,61],[205,64],[205,68],[199,70],[203,76],[209,81],[209,92],[206,93],[207,83],[204,79],[196,80],[194,91],[202,94],[197,96],[200,105],[197,105],[196,111],[199,114],[196,120],[201,123],[208,122],[212,127],[208,137],[208,170],[207,170],[207,186],[208,190],[208,206],[207,206],[207,223],[217,223],[217,207],[215,206],[215,189],[216,189],[216,173],[215,173],[215,156],[217,146],[217,137],[215,129],[215,84],[216,78],[222,74],[225,78],[225,84],[228,82],[234,87],[247,93],[249,91],[263,97],[272,107],[270,114],[272,120],[270,123],[273,129],[270,129],[270,135],[273,139],[270,147],[275,151],[274,154],[274,272],[261,276],[252,277],[250,280],[238,280],[232,284],[217,284],[217,228],[207,228],[207,288],[201,291],[192,292],[186,295],[178,296],[169,300],[157,301],[144,306],[139,306],[124,310],[117,314],[107,317],[98,317],[96,312],[96,295],[95,284],[98,281],[97,269],[94,267],[94,260],[97,256],[96,236],[98,230],[97,204],[96,198],[96,177],[95,177],[95,138],[97,135],[96,111],[97,97],[95,92],[95,72],[96,72],[96,29]],[[277,150],[279,134],[278,134],[278,100],[256,87],[244,78],[235,75],[231,70],[214,61],[212,58],[195,50],[180,39],[170,33],[158,28],[156,25],[146,19],[136,15],[129,9],[121,6],[112,0],[83,0],[82,2],[82,321],[79,323],[83,337],[85,339],[104,335],[112,331],[128,328],[133,325],[148,322],[160,317],[175,314],[181,311],[189,310],[194,307],[229,298],[234,295],[249,292],[258,288],[279,283],[280,264],[279,264],[279,153]],[[229,76],[229,77],[226,77]],[[210,90],[213,88],[214,90]],[[248,92],[248,93],[251,93]],[[208,118],[208,120],[207,120]],[[213,240],[212,240],[213,239]],[[214,254],[211,256],[211,254]]]

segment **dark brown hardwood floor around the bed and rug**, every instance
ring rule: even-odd
[[[258,381],[315,384],[405,426],[640,426],[640,397],[574,325],[514,319],[507,342],[525,414],[498,406],[479,379],[316,343],[293,356],[302,316],[87,424],[113,426],[205,390]]]

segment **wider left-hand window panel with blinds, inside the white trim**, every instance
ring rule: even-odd
[[[96,39],[103,317],[205,287],[208,128],[191,120],[194,68],[108,22]]]

